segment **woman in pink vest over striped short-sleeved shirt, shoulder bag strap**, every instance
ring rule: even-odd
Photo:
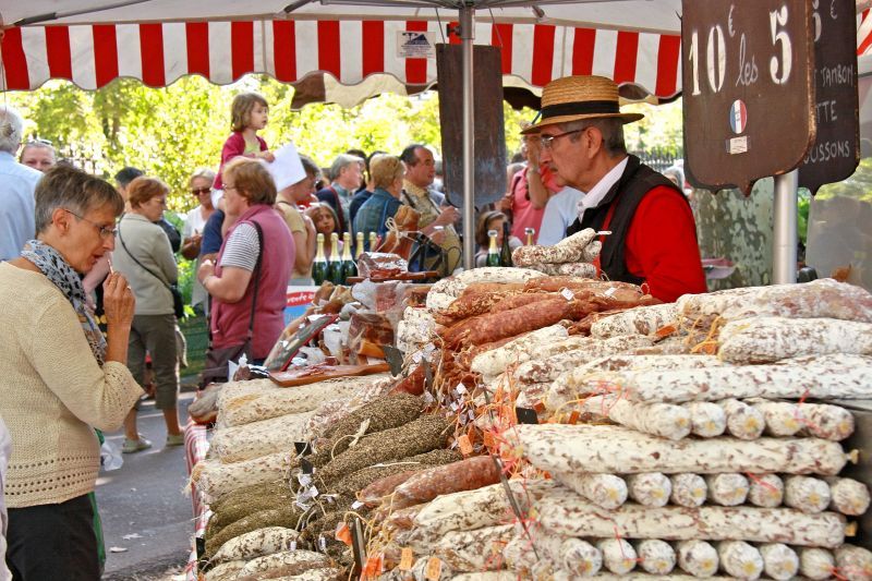
[[[272,207],[276,184],[264,164],[234,158],[225,166],[221,179],[227,210],[239,219],[225,237],[217,264],[204,261],[197,271],[213,298],[210,349],[232,348],[246,341],[254,303],[254,334],[247,355],[249,362],[263,362],[284,329],[294,242]]]

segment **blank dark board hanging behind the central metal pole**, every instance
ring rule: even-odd
[[[463,207],[463,64],[462,49],[436,45],[439,125],[443,136],[445,194]],[[473,47],[475,102],[475,206],[497,202],[506,193],[506,126],[502,118],[502,60],[496,47]],[[472,218],[469,218],[472,219]]]

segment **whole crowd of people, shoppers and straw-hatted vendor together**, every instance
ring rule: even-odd
[[[502,243],[504,225],[510,247],[593,228],[609,279],[645,285],[662,301],[704,292],[683,175],[670,181],[628,155],[622,125],[641,116],[619,110],[614,82],[560,78],[542,105],[522,130],[502,198],[465,217],[476,220],[476,263],[488,232]],[[392,233],[405,206],[417,216],[416,243],[429,249],[419,267],[441,276],[460,268],[461,215],[440,192],[433,149],[350,149],[323,179],[310,157],[270,149],[258,135],[268,114],[262,96],[237,96],[218,171],[196,169],[187,182],[195,207],[180,232],[166,219],[170,189],[159,177],[123,168],[112,185],[58,162],[45,141],[22,147],[21,116],[0,107],[0,485],[9,507],[0,550],[15,579],[99,578],[99,431],[123,424],[128,453],[152,446],[136,429],[140,386],[154,390],[166,446],[183,443],[177,253],[196,261],[191,304],[209,319],[204,375],[225,378],[232,358],[267,356],[284,326],[288,285],[312,282],[320,234],[329,253],[343,234],[364,234],[361,250],[371,250],[371,234]],[[0,562],[0,581],[8,578]]]

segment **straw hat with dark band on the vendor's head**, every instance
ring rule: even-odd
[[[620,118],[625,123],[639,121],[642,113],[621,113],[618,85],[605,76],[565,76],[552,81],[542,90],[542,111],[536,123],[521,133],[538,133],[544,125],[568,123],[579,119]]]

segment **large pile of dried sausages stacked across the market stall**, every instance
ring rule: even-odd
[[[583,274],[581,234],[407,294],[397,375],[226,384],[192,474],[205,579],[872,578],[844,473],[872,295],[657,304],[546,274]]]

